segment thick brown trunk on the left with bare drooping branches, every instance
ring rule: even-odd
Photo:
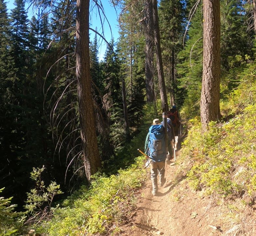
[[[77,0],[76,66],[80,133],[85,173],[88,181],[101,166],[99,156],[89,56],[89,0]]]

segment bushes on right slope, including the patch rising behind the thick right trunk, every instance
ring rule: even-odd
[[[201,134],[200,119],[190,122],[188,138],[184,142],[183,158],[192,163],[188,179],[193,189],[204,190],[204,194],[219,197],[239,197],[247,204],[255,198],[254,143],[255,143],[255,68],[250,62],[237,76],[241,79],[238,88],[221,103],[228,122],[211,122],[209,130]],[[250,96],[248,96],[250,94]]]

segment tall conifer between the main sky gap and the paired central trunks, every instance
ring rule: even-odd
[[[121,7],[123,11],[120,15],[120,37],[117,51],[121,61],[121,80],[124,77],[127,95],[125,97],[129,119],[126,124],[129,123],[130,126],[136,127],[140,124],[139,110],[144,104],[143,90],[146,87],[144,78],[145,36],[138,24],[143,21],[145,5],[143,2],[127,0],[122,2]]]

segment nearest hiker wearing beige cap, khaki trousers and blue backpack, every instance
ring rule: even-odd
[[[154,196],[157,195],[158,191],[157,174],[159,174],[159,185],[161,187],[166,182],[164,178],[166,150],[164,126],[160,124],[159,119],[154,119],[153,124],[149,127],[145,142],[145,153],[150,159],[150,177],[152,181],[152,194]]]

